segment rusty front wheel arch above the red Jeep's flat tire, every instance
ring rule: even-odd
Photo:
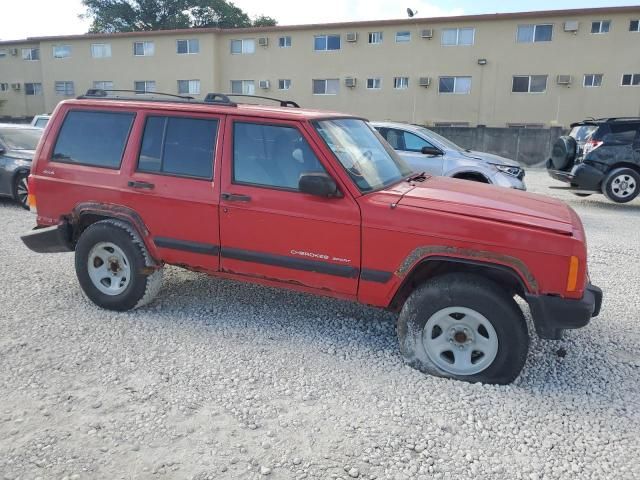
[[[420,259],[407,272],[389,305],[392,311],[400,311],[417,287],[427,280],[448,273],[470,273],[489,278],[509,294],[525,298],[525,294],[537,291],[537,283],[528,270],[523,274],[513,266],[488,260],[470,259],[448,255],[432,255]]]

